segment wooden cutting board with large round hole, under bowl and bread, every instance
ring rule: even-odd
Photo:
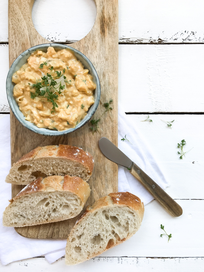
[[[8,2],[9,65],[11,65],[26,49],[50,42],[36,31],[32,23],[34,0]],[[106,159],[98,147],[98,140],[103,136],[115,145],[118,140],[118,0],[95,0],[95,3],[97,16],[93,28],[86,37],[70,46],[86,55],[98,73],[101,82],[101,101],[94,115],[95,119],[104,112],[103,103],[113,99],[113,110],[101,118],[101,134],[93,135],[88,123],[67,136],[42,136],[23,127],[12,112],[10,113],[12,164],[37,146],[45,145],[74,145],[93,155],[95,166],[89,180],[91,195],[85,207],[92,205],[100,197],[118,190],[118,167]],[[23,187],[12,185],[12,197],[16,196]],[[28,238],[64,239],[67,238],[78,217],[56,223],[15,228],[15,230]]]

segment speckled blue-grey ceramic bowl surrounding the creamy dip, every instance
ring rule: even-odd
[[[25,120],[25,116],[19,110],[19,106],[18,106],[15,98],[13,97],[13,87],[15,85],[12,82],[13,73],[15,73],[17,70],[19,70],[20,67],[27,62],[27,59],[29,58],[29,56],[33,52],[35,52],[36,50],[41,50],[43,52],[46,52],[47,48],[49,46],[54,47],[55,50],[61,50],[64,48],[68,48],[68,49],[72,50],[74,52],[76,58],[82,62],[85,69],[89,70],[89,73],[92,75],[93,81],[96,84],[96,89],[95,89],[95,94],[94,94],[95,102],[88,109],[87,115],[79,122],[79,124],[76,125],[76,127],[69,128],[69,129],[63,130],[63,131],[50,130],[47,128],[39,128],[35,124],[30,123],[29,121]],[[40,44],[37,46],[33,46],[33,47],[29,48],[28,50],[26,50],[25,52],[23,52],[21,55],[19,55],[18,58],[16,58],[16,60],[11,65],[8,75],[7,75],[6,92],[7,92],[8,103],[10,105],[10,108],[11,108],[13,114],[15,115],[16,119],[24,127],[27,127],[29,130],[32,130],[33,132],[38,133],[38,134],[47,135],[47,136],[59,136],[59,135],[64,135],[67,133],[71,133],[75,130],[78,130],[80,127],[84,126],[91,119],[92,115],[94,115],[94,113],[96,112],[98,105],[99,105],[100,96],[101,96],[101,87],[100,87],[98,74],[97,74],[93,64],[91,63],[91,61],[89,61],[89,59],[85,55],[83,55],[81,52],[74,49],[73,47],[70,47],[65,44],[47,43],[47,44]]]

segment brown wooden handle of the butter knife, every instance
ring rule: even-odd
[[[135,163],[132,164],[130,173],[148,190],[149,193],[164,207],[172,216],[180,216],[183,213],[181,206],[176,203],[161,187],[156,184],[145,172]]]

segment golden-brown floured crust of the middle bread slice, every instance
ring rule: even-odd
[[[35,181],[32,181],[9,201],[12,203],[22,196],[36,192],[53,191],[74,193],[81,199],[82,205],[84,205],[90,195],[91,189],[88,183],[79,177],[73,177],[69,175],[49,176],[47,178],[37,178]]]

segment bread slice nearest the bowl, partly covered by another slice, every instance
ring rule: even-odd
[[[88,181],[93,168],[93,157],[82,148],[71,145],[39,146],[13,164],[5,181],[26,185],[36,178],[52,175],[70,175]]]

